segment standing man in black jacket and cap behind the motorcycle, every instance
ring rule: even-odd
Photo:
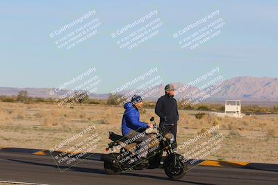
[[[156,115],[159,116],[159,127],[164,133],[174,134],[174,140],[177,145],[177,122],[179,121],[179,112],[177,100],[174,98],[174,86],[166,85],[165,95],[161,96],[156,103]]]

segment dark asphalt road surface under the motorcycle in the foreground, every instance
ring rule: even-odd
[[[65,168],[61,168],[63,170]],[[278,184],[278,172],[197,166],[183,179],[171,181],[163,169],[106,175],[102,161],[85,159],[61,173],[50,156],[0,152],[0,182],[37,184]]]

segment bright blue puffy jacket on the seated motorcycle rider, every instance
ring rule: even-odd
[[[132,130],[147,128],[147,123],[140,122],[138,109],[134,108],[129,102],[124,104],[124,116],[122,116],[122,135],[129,134]]]

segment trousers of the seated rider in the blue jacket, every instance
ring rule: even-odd
[[[140,133],[140,132],[136,132],[136,131],[131,131],[129,132],[129,134],[125,135],[126,138],[128,139],[136,139],[134,142],[138,143],[140,145],[140,143],[142,143],[142,141],[145,141],[144,145],[140,145],[139,150],[141,150],[141,152],[138,153],[138,157],[143,157],[143,158],[147,158],[147,151],[148,151],[148,146],[149,146],[149,139],[148,136],[146,136],[146,134],[144,133]]]

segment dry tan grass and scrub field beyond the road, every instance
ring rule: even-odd
[[[101,136],[95,152],[104,152],[108,131],[121,134],[122,107],[113,105],[74,105],[58,107],[49,103],[0,103],[1,147],[49,149],[91,124]],[[208,128],[220,125],[218,133],[226,135],[222,147],[207,159],[278,163],[278,116],[245,116],[241,119],[218,118],[196,112],[180,110],[177,141],[184,141],[202,134]],[[154,109],[143,109],[141,121],[149,123],[155,117]],[[201,142],[201,141],[200,141]],[[180,151],[184,152],[184,151]]]

